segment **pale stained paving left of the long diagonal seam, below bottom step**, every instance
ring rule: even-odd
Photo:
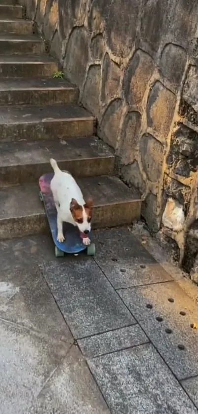
[[[0,414],[110,414],[37,266],[50,259],[48,236],[0,243]]]

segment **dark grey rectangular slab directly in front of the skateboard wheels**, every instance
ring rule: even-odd
[[[50,262],[43,264],[41,268],[76,339],[135,323],[91,258],[71,256],[59,266]]]

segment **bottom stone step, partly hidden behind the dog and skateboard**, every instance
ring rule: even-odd
[[[100,176],[78,179],[85,198],[94,200],[93,228],[131,224],[140,219],[140,195],[118,178]],[[0,190],[0,239],[49,232],[36,184]]]

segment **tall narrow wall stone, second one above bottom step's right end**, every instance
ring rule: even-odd
[[[141,114],[139,112],[129,112],[123,121],[118,155],[121,164],[131,164],[136,156],[136,147],[141,130]]]

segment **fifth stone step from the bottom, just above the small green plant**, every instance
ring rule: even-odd
[[[58,71],[58,62],[49,56],[0,55],[0,76],[2,77],[53,77],[56,71]]]

